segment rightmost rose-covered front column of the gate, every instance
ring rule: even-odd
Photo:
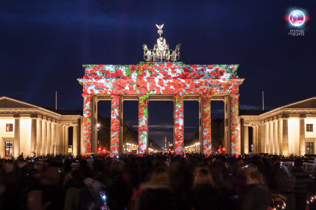
[[[232,95],[231,97],[231,144],[232,154],[240,154],[240,119],[239,119],[239,95]]]

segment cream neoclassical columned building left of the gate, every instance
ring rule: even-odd
[[[80,154],[81,129],[80,113],[50,111],[23,101],[0,97],[1,157],[9,157],[12,152],[15,158],[22,152],[24,157],[32,156],[33,151],[36,156],[67,153],[69,140],[72,140],[73,154]]]

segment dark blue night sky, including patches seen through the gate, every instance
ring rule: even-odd
[[[137,2],[137,3],[136,3]],[[304,36],[291,36],[289,9],[306,9]],[[239,64],[240,108],[266,110],[315,96],[316,2],[305,1],[1,1],[1,94],[41,107],[81,109],[82,64],[137,64],[161,25],[185,64]],[[150,47],[151,48],[151,47]],[[212,118],[223,118],[212,102]],[[198,103],[185,101],[185,139],[198,131]],[[99,103],[110,116],[110,101]],[[124,102],[137,129],[137,102]],[[149,138],[173,138],[172,101],[149,102]]]

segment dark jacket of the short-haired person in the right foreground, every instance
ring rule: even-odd
[[[268,188],[263,184],[249,184],[242,201],[241,210],[267,210],[272,202]]]

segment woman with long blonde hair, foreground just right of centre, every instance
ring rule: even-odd
[[[222,209],[219,192],[208,170],[200,169],[196,172],[187,201],[188,209]]]

